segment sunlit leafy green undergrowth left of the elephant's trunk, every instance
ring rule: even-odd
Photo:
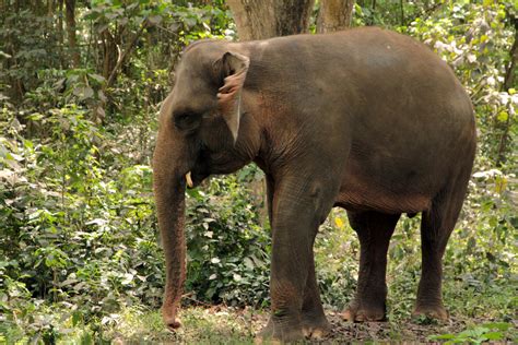
[[[1,118],[9,128],[0,142],[5,321],[20,328],[30,322],[23,317],[27,310],[19,318],[10,306],[32,296],[42,299],[36,313],[47,299],[72,306],[72,313],[81,306],[85,319],[131,300],[157,306],[163,262],[156,254],[150,167],[122,167],[113,179],[116,171],[109,169],[120,158],[111,151],[120,146],[84,110],[66,107],[28,118],[43,139],[24,139],[25,126],[9,110]]]

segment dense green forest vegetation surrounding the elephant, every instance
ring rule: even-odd
[[[72,14],[61,1],[0,4],[0,343],[172,336],[154,311],[164,263],[150,159],[181,49],[199,38],[236,37],[223,1],[203,3],[95,0],[72,5]],[[468,331],[443,338],[511,340],[517,9],[511,1],[396,3],[358,1],[353,26],[380,25],[428,45],[455,69],[478,120],[469,197],[445,255],[445,301],[455,321],[447,330]],[[250,310],[269,304],[261,178],[249,166],[188,193],[185,305],[251,307],[242,321],[226,321],[224,332],[240,340],[254,332]],[[403,218],[391,241],[385,338],[407,336],[420,275],[419,223]],[[340,310],[355,288],[358,242],[342,212],[321,233],[322,298]],[[221,312],[213,323],[200,313],[185,311],[186,323],[209,330],[203,336],[211,340]],[[201,336],[192,334],[177,336]]]

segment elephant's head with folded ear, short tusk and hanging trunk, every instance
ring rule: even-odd
[[[249,58],[227,47],[205,41],[188,48],[160,114],[153,170],[167,269],[163,316],[169,328],[179,326],[176,310],[185,279],[186,185],[235,171],[257,153],[259,133],[243,115]]]

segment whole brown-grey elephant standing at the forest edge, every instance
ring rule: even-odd
[[[425,45],[376,27],[266,40],[200,40],[183,52],[162,103],[153,189],[170,330],[186,278],[185,192],[256,163],[272,228],[271,317],[259,340],[330,332],[314,241],[334,206],[361,245],[343,317],[381,321],[401,214],[422,214],[415,314],[447,319],[442,261],[467,193],[476,134],[470,97]]]

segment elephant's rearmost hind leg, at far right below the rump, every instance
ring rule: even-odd
[[[469,177],[469,175],[468,175]],[[417,289],[414,316],[447,320],[443,305],[443,255],[462,207],[467,178],[455,180],[452,188],[439,193],[432,207],[423,212],[421,219],[422,276]]]

